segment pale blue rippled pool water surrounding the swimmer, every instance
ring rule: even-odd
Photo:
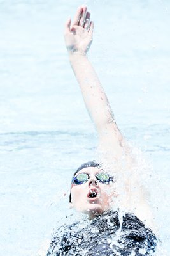
[[[0,1],[1,255],[36,255],[70,214],[74,169],[95,157],[96,132],[62,36],[81,3]],[[153,170],[148,189],[168,252],[170,2],[83,3],[95,22],[89,58],[120,130]]]

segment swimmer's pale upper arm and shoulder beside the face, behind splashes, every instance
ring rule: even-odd
[[[150,195],[140,179],[139,156],[133,154],[133,148],[122,136],[115,122],[104,125],[98,135],[99,156],[115,177],[120,207],[134,212],[138,218],[147,220],[148,225],[153,227],[152,207],[148,203]]]

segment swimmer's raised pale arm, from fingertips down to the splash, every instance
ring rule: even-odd
[[[78,8],[74,20],[67,20],[64,32],[69,60],[80,85],[89,115],[96,126],[99,148],[107,156],[120,161],[127,151],[124,138],[115,122],[106,93],[87,58],[92,43],[94,23],[86,6]]]

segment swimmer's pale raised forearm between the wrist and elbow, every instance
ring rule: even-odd
[[[92,121],[98,132],[104,125],[114,122],[106,93],[101,86],[97,74],[87,56],[80,52],[69,54],[69,60],[80,85],[83,99]]]

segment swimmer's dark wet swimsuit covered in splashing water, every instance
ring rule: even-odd
[[[125,214],[121,221],[117,211],[109,211],[83,228],[80,223],[62,226],[53,235],[46,256],[141,256],[152,254],[155,247],[152,230],[134,214]]]

